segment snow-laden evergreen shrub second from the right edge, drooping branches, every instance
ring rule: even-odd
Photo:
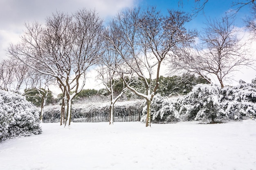
[[[177,100],[180,117],[185,120],[214,122],[222,115],[220,88],[215,85],[197,84],[192,91]]]

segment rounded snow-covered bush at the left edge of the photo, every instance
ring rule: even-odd
[[[0,90],[0,141],[41,132],[37,108],[21,95]]]

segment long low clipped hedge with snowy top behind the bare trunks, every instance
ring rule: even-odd
[[[114,121],[139,121],[142,100],[116,102],[114,105]],[[109,121],[109,102],[87,102],[72,105],[72,121],[104,122]],[[46,106],[43,122],[59,122],[60,106]]]

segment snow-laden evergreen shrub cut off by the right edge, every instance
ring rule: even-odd
[[[256,118],[256,84],[240,81],[237,86],[222,89],[222,108],[229,119]]]

